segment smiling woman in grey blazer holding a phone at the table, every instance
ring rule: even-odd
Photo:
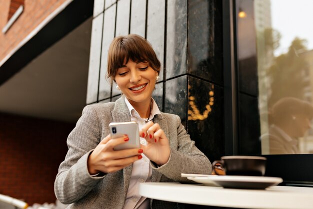
[[[138,35],[117,37],[108,51],[108,78],[122,96],[88,105],[67,138],[68,152],[54,183],[68,208],[172,208],[173,202],[141,197],[140,182],[187,182],[181,173],[211,173],[211,164],[190,140],[177,115],[162,113],[151,98],[160,62]],[[137,121],[140,149],[114,151],[110,122]],[[130,157],[129,157],[130,156]]]

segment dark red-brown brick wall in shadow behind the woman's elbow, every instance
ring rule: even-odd
[[[0,113],[0,193],[55,202],[53,183],[75,124]]]

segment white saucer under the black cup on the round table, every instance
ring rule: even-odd
[[[279,177],[267,176],[241,176],[241,175],[197,175],[186,176],[189,180],[202,183],[208,186],[220,185],[224,188],[247,188],[247,189],[264,189],[268,186],[277,185],[282,182]],[[183,176],[183,175],[181,175]]]

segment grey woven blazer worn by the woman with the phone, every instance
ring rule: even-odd
[[[54,182],[58,200],[67,208],[122,208],[131,177],[132,165],[114,173],[92,177],[88,173],[87,158],[96,145],[109,134],[110,122],[130,121],[129,110],[122,96],[116,102],[86,106],[75,128],[67,138],[68,151],[60,164]],[[152,182],[188,182],[180,173],[211,173],[211,163],[194,146],[177,115],[155,115],[165,132],[171,149],[166,164],[157,167],[153,162]],[[175,203],[150,200],[151,208],[173,208]]]

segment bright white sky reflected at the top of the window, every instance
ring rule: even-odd
[[[281,34],[275,55],[285,53],[295,37],[313,49],[313,0],[271,0],[272,28]]]

